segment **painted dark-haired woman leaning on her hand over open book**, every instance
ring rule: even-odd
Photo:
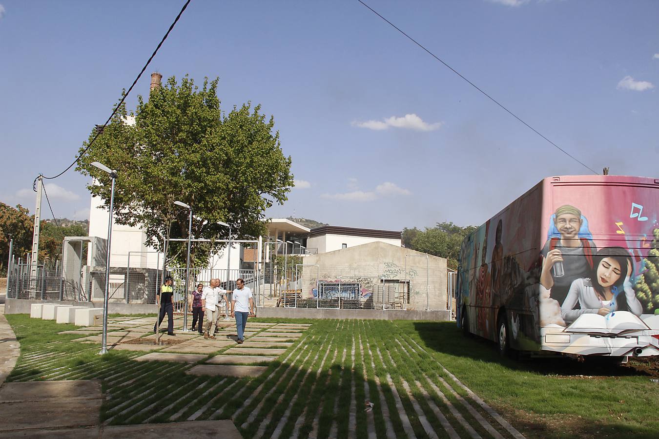
[[[604,247],[592,257],[589,277],[572,282],[561,314],[565,323],[572,323],[580,315],[591,313],[608,315],[612,311],[629,311],[637,316],[643,306],[631,285],[633,261],[623,247]],[[579,308],[575,306],[579,303]]]

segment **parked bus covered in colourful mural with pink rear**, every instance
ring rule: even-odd
[[[554,176],[463,240],[457,324],[501,355],[659,354],[659,179]]]

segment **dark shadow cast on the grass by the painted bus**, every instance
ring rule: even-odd
[[[529,371],[559,376],[659,376],[656,359],[630,359],[629,363],[590,357],[577,361],[569,357],[503,358],[496,344],[473,336],[465,337],[454,322],[414,322],[413,329],[433,351],[487,363],[500,363],[515,371]]]

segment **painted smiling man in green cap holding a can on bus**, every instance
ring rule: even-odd
[[[542,247],[540,284],[551,290],[550,297],[562,305],[573,280],[588,276],[592,255],[597,252],[588,236],[579,236],[584,220],[581,211],[562,205],[554,213],[554,226],[560,235],[547,240]]]

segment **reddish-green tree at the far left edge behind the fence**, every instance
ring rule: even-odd
[[[14,240],[13,253],[17,257],[24,257],[32,251],[32,233],[34,231],[34,217],[30,211],[20,204],[11,207],[0,203],[0,273],[7,273],[9,261],[9,241]]]

